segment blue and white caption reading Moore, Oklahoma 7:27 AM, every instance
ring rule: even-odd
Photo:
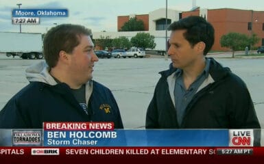
[[[67,9],[14,9],[12,10],[13,25],[39,25],[40,17],[67,17]]]

